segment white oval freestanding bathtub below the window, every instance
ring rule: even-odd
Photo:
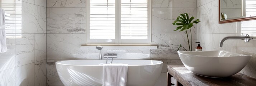
[[[162,70],[161,61],[114,59],[128,64],[127,86],[154,86]],[[58,75],[65,86],[102,86],[105,59],[80,59],[56,62]]]

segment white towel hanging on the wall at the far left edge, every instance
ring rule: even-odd
[[[5,37],[5,14],[0,8],[0,53],[6,52],[6,37]]]

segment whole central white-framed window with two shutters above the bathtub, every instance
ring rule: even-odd
[[[88,0],[87,44],[151,44],[150,0]]]

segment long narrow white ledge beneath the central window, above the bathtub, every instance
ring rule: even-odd
[[[103,49],[157,49],[157,46],[102,46]],[[96,46],[81,46],[80,49],[96,49]]]

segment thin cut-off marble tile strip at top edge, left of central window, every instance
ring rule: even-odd
[[[47,7],[86,7],[86,0],[47,0]]]

